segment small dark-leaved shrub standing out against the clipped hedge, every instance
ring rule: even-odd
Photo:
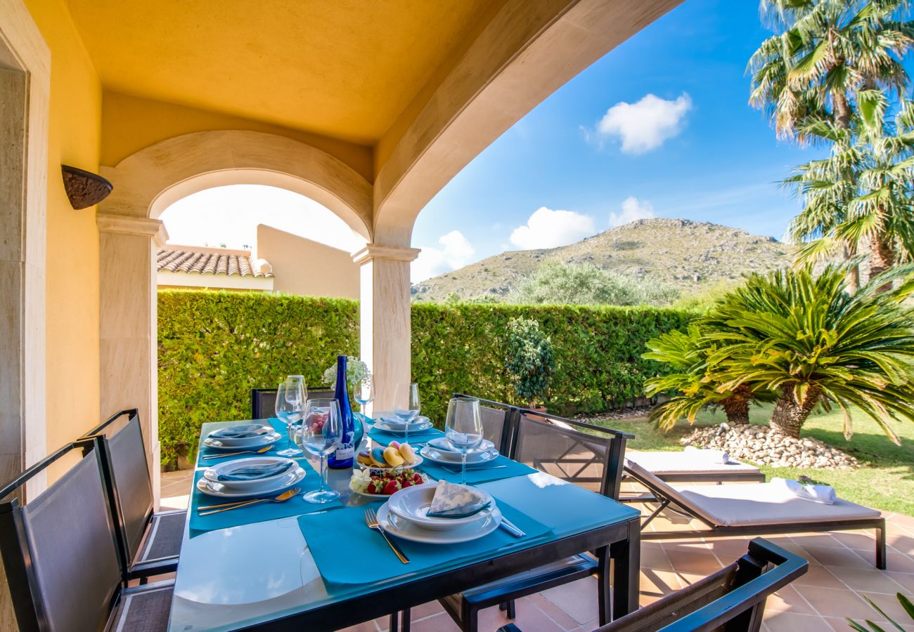
[[[515,392],[535,407],[556,368],[552,341],[537,321],[519,317],[508,321],[505,346],[505,366],[514,378]]]

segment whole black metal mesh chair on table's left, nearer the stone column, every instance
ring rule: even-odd
[[[154,511],[153,482],[136,409],[116,413],[87,437],[101,440],[101,467],[127,577],[145,582],[153,575],[174,573],[187,512]]]

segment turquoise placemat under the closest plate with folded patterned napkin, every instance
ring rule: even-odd
[[[409,557],[402,564],[381,534],[371,531],[365,523],[365,507],[377,511],[380,503],[347,507],[339,511],[300,516],[299,527],[314,558],[314,564],[324,580],[333,584],[371,584],[403,574],[424,573],[470,564],[495,555],[525,549],[547,540],[551,530],[504,500],[495,499],[505,518],[526,532],[515,538],[503,529],[472,542],[459,544],[425,544],[397,539]]]

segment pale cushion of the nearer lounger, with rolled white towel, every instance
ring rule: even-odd
[[[834,505],[803,500],[780,485],[691,485],[675,488],[688,505],[718,526],[802,524],[878,518],[875,509],[837,499]]]

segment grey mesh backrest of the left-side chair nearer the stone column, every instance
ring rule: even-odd
[[[111,464],[114,507],[123,525],[127,562],[133,562],[153,515],[153,484],[149,477],[140,417],[109,436],[104,446]]]

